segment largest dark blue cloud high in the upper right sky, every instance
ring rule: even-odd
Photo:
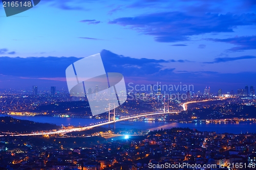
[[[233,28],[255,25],[255,21],[254,13],[241,15],[206,13],[201,16],[191,16],[183,12],[162,12],[121,17],[109,23],[154,36],[158,42],[178,42],[187,41],[192,35],[233,32]]]

